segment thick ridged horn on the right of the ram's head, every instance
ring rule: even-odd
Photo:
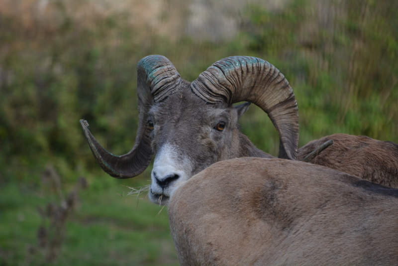
[[[208,103],[254,103],[268,114],[280,136],[279,157],[296,159],[298,107],[289,82],[259,58],[233,56],[215,62],[191,84]]]

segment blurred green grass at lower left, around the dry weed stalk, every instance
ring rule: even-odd
[[[118,180],[117,180],[118,181]],[[141,195],[126,194],[118,182],[81,193],[80,207],[67,222],[66,238],[53,264],[43,264],[36,232],[43,221],[36,211],[54,195],[8,184],[0,189],[0,265],[178,265],[167,209],[162,212]],[[95,191],[93,191],[95,190]]]

